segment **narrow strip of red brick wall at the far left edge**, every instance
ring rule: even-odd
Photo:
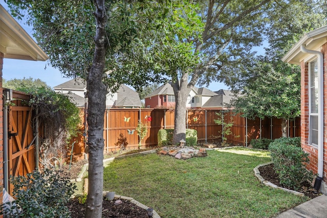
[[[2,96],[2,69],[4,63],[4,54],[0,53],[0,96]],[[3,98],[0,98],[0,204],[3,199],[3,188],[4,188],[4,154],[3,154]],[[2,217],[2,215],[0,215]]]

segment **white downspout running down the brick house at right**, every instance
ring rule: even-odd
[[[318,176],[323,178],[323,55],[321,52],[307,50],[301,45],[301,52],[318,57]],[[321,182],[321,181],[320,181]]]

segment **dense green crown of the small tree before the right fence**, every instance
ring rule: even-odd
[[[248,118],[292,119],[300,115],[300,72],[281,61],[256,62],[232,106]]]

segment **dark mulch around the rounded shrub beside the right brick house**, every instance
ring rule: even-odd
[[[279,183],[279,178],[273,169],[273,164],[268,164],[268,165],[259,167],[259,172],[260,172],[260,176],[262,176],[262,178],[264,178],[265,180],[267,180],[279,187],[284,187],[284,188],[287,188],[290,190],[294,190],[290,187],[285,187],[281,183]],[[321,195],[321,193],[319,191],[316,191],[312,187],[312,185],[307,181],[302,184],[301,189],[302,190],[298,190],[298,191],[304,193],[305,196],[309,197],[310,199],[316,198]]]

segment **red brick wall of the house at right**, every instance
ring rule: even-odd
[[[323,178],[327,176],[327,43],[322,46],[324,57],[324,165]],[[309,145],[309,75],[308,63],[301,62],[301,147],[310,153],[310,164],[307,166],[314,173],[318,173],[318,149]]]

